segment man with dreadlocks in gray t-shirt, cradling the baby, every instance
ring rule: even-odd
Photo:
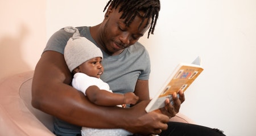
[[[78,29],[81,36],[96,44],[104,54],[105,73],[101,79],[109,83],[113,92],[134,92],[140,103],[126,109],[100,107],[69,86],[72,74],[64,61],[63,50],[72,34],[61,29],[49,39],[36,65],[32,105],[56,117],[56,135],[77,135],[81,126],[121,128],[141,135],[159,134],[168,127],[170,131],[167,122],[179,112],[184,94],[180,92],[179,98],[174,94],[174,105],[166,100],[166,107],[160,109],[162,114],[144,111],[149,102],[150,60],[146,49],[138,42],[148,29],[148,36],[154,32],[160,2],[110,0],[105,10],[102,23]]]

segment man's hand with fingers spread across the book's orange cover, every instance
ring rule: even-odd
[[[183,91],[179,91],[179,97],[177,97],[176,92],[172,94],[172,99],[174,101],[174,105],[170,103],[169,99],[166,99],[165,103],[166,106],[163,108],[160,108],[160,111],[163,114],[166,114],[168,117],[174,117],[180,110],[180,105],[185,101],[185,96]]]

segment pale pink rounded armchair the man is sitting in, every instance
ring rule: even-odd
[[[54,135],[52,116],[31,105],[33,74],[28,71],[0,80],[0,135]],[[193,123],[181,113],[171,121]]]

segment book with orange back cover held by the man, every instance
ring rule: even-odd
[[[151,112],[164,107],[164,101],[167,98],[170,99],[170,102],[173,104],[172,94],[174,92],[179,92],[180,90],[183,90],[183,92],[187,90],[203,70],[200,57],[197,57],[191,64],[180,63],[177,65],[176,69],[167,79],[167,82],[147,105],[146,112]]]

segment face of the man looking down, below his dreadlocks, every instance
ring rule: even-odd
[[[101,33],[101,40],[104,43],[104,50],[109,54],[119,54],[124,48],[135,44],[150,27],[150,23],[147,24],[148,19],[145,19],[139,28],[142,22],[139,16],[135,17],[129,27],[126,27],[125,23],[123,23],[125,19],[119,19],[122,12],[118,12],[118,8],[108,10],[106,15],[108,17],[105,17],[104,22],[102,22],[104,27]]]

